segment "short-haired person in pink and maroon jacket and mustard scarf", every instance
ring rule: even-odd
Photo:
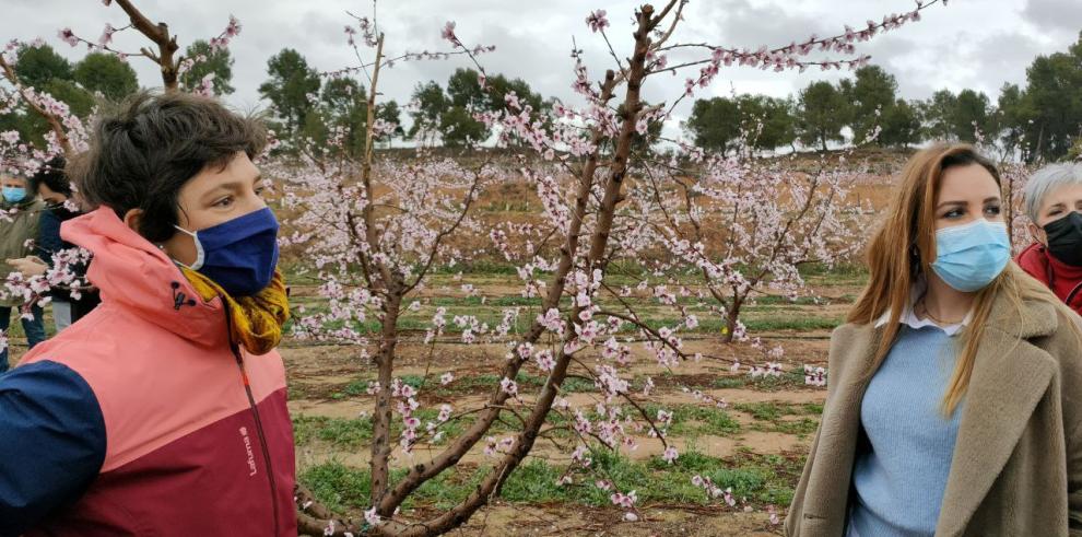
[[[102,304],[0,376],[0,535],[295,536],[260,122],[140,93],[68,172]]]

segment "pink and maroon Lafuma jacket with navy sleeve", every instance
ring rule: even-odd
[[[281,357],[114,211],[62,235],[102,305],[0,376],[0,535],[297,535]]]

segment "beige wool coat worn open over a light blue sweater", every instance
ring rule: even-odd
[[[1072,314],[1072,322],[1080,319]],[[823,419],[785,521],[799,537],[843,535],[881,329],[831,338]],[[963,400],[937,536],[1082,536],[1082,346],[1050,304],[992,304]]]

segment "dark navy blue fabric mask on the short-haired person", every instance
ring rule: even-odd
[[[251,296],[270,284],[278,267],[278,220],[269,208],[195,233],[175,227],[196,241],[196,262],[188,268],[230,296]]]

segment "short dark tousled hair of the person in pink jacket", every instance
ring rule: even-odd
[[[255,159],[267,128],[255,116],[188,93],[138,92],[102,110],[90,149],[72,159],[68,176],[86,209],[124,218],[141,209],[139,234],[157,243],[176,232],[180,188],[208,166],[225,167],[237,152]]]

